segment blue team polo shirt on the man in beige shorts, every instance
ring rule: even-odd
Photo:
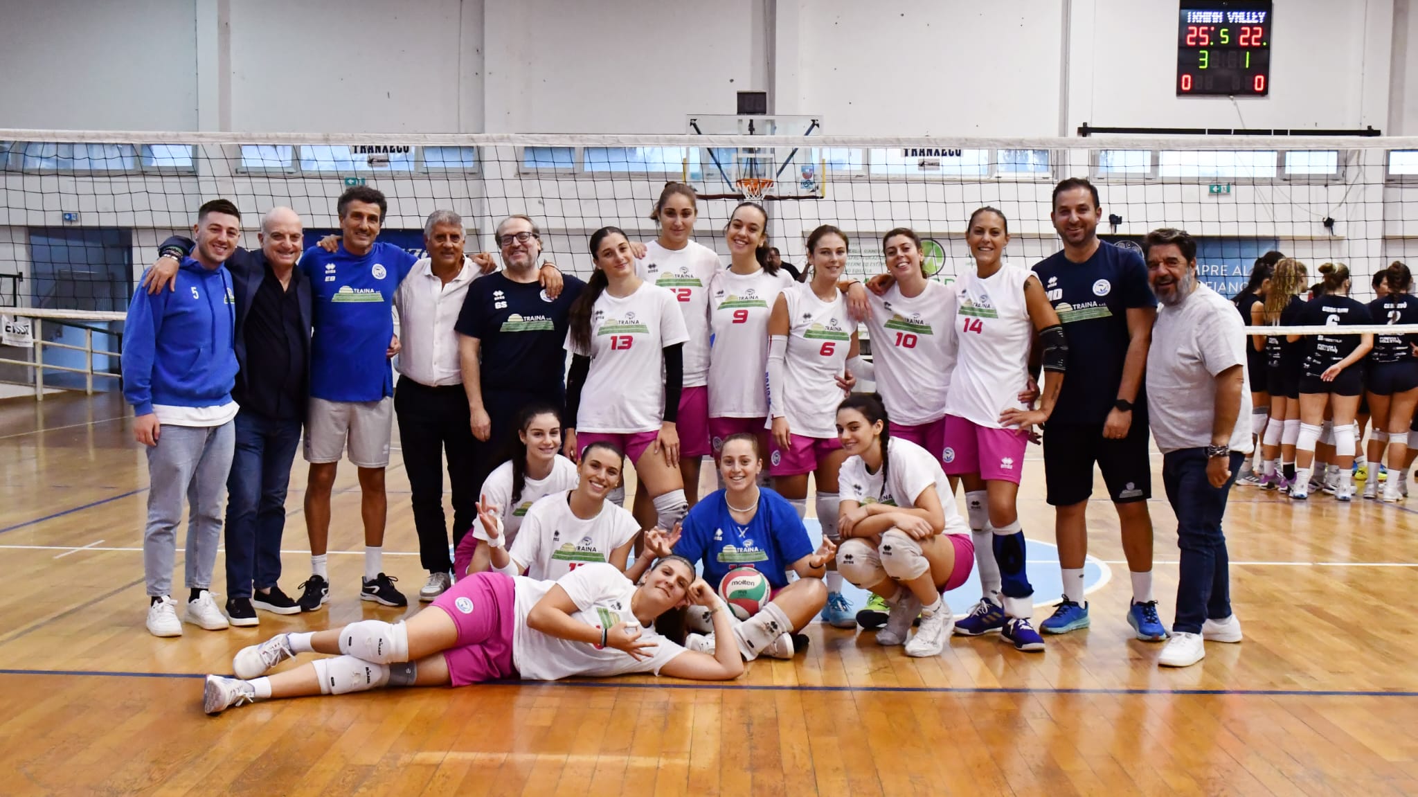
[[[311,396],[326,401],[379,401],[394,394],[389,340],[394,336],[394,291],[414,267],[414,255],[374,243],[364,255],[340,244],[328,252],[311,247],[301,271],[311,278]]]

